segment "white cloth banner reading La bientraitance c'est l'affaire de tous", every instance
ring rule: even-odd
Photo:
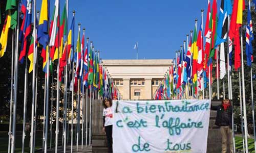
[[[113,101],[114,152],[206,152],[210,100]]]

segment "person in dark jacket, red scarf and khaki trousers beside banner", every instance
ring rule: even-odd
[[[232,144],[232,113],[233,108],[228,99],[222,101],[222,105],[211,106],[211,110],[217,111],[215,124],[220,127],[222,135],[222,153],[227,152],[227,144],[229,144],[230,152],[233,153]]]

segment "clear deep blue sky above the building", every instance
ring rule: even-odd
[[[65,0],[60,3],[62,12]],[[69,28],[75,10],[75,41],[79,22],[102,59],[136,59],[136,42],[139,59],[173,59],[196,18],[199,27],[201,9],[204,27],[207,0],[69,0]]]

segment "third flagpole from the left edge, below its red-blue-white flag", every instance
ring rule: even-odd
[[[25,123],[27,120],[27,98],[28,98],[28,56],[26,56],[26,66],[25,66],[25,79],[24,79],[24,106],[23,106],[23,132],[22,132],[22,153],[24,153],[24,144],[25,144]]]

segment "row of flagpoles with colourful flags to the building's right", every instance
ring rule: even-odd
[[[232,45],[233,45],[233,43],[235,44],[235,45],[238,45],[238,43],[239,43],[239,45],[240,45],[240,42],[241,42],[241,48],[237,48],[237,47],[235,47],[235,58],[237,57],[237,58],[241,58],[241,59],[238,59],[238,61],[240,61],[240,64],[237,62],[237,61],[235,61],[235,69],[238,69],[238,73],[239,73],[239,86],[240,86],[240,108],[241,108],[241,122],[242,122],[242,129],[241,129],[241,131],[242,131],[242,138],[243,138],[243,143],[244,143],[244,145],[243,145],[243,147],[244,147],[244,149],[243,149],[243,151],[244,152],[248,152],[248,137],[247,137],[247,134],[248,134],[248,128],[247,128],[247,112],[246,112],[246,97],[245,97],[245,92],[246,92],[246,89],[245,89],[245,80],[244,80],[244,78],[245,78],[245,76],[244,76],[244,74],[245,74],[245,72],[244,72],[244,59],[243,59],[243,33],[242,33],[242,31],[243,31],[243,29],[242,29],[242,14],[239,14],[239,12],[236,12],[238,9],[240,9],[240,10],[243,10],[243,3],[244,3],[244,1],[243,0],[236,0],[236,1],[234,1],[234,8],[233,8],[233,10],[232,10],[232,14],[231,14],[231,12],[230,12],[230,10],[229,10],[229,13],[230,14],[228,14],[228,11],[227,10],[224,10],[223,11],[223,9],[227,9],[227,7],[230,7],[231,6],[231,3],[229,2],[229,0],[222,0],[221,1],[221,7],[220,7],[220,13],[227,13],[227,14],[224,14],[224,15],[226,15],[226,16],[224,16],[224,17],[220,17],[220,14],[219,14],[219,19],[220,18],[223,18],[223,21],[222,22],[220,22],[222,25],[221,25],[221,28],[224,30],[225,28],[224,28],[224,25],[226,25],[227,24],[227,31],[226,31],[226,33],[225,33],[225,36],[224,37],[221,37],[221,39],[226,39],[227,40],[227,63],[225,63],[225,53],[224,53],[224,42],[222,42],[222,43],[220,43],[220,46],[218,45],[218,46],[215,46],[216,48],[215,48],[215,54],[216,54],[216,74],[217,74],[217,76],[216,76],[216,79],[217,79],[217,99],[220,99],[220,86],[219,86],[219,77],[221,77],[221,79],[223,79],[223,77],[224,77],[224,75],[226,74],[226,68],[225,68],[225,66],[227,66],[227,86],[228,86],[228,91],[227,91],[227,93],[228,93],[228,99],[233,99],[233,97],[232,97],[232,79],[231,79],[231,75],[230,75],[230,72],[231,72],[231,54],[232,54]],[[228,4],[230,4],[230,6],[227,6]],[[212,10],[214,10],[214,7],[215,8],[217,8],[217,3],[216,3],[216,0],[213,0],[212,1]],[[209,20],[210,19],[210,15],[209,15],[209,9],[210,8],[210,1],[208,1],[208,13],[207,13],[207,19],[206,19],[206,27],[207,27],[207,20]],[[252,122],[253,122],[253,135],[254,135],[254,149],[255,149],[255,151],[256,151],[256,137],[255,137],[255,119],[254,119],[254,99],[253,99],[253,82],[252,82],[252,65],[251,65],[251,62],[252,62],[252,60],[251,60],[251,57],[252,57],[252,44],[251,44],[251,41],[253,40],[253,31],[252,31],[252,21],[251,21],[251,17],[250,17],[250,8],[251,8],[251,6],[250,6],[250,1],[248,2],[248,15],[247,15],[247,28],[246,28],[246,49],[247,49],[247,47],[249,46],[250,47],[250,49],[249,49],[249,51],[248,50],[246,50],[246,55],[247,55],[247,65],[248,65],[248,56],[249,56],[249,65],[248,66],[250,66],[250,87],[251,87],[251,107],[252,107]],[[230,9],[230,8],[229,8]],[[216,9],[215,9],[216,10]],[[242,12],[242,11],[241,11]],[[240,13],[241,13],[240,12]],[[217,13],[217,12],[216,12]],[[240,15],[240,19],[239,19],[239,22],[236,20],[236,22],[234,22],[234,18],[236,18],[237,17],[237,14],[236,13],[238,13],[238,16]],[[234,15],[234,14],[236,14],[236,15]],[[211,15],[212,15],[212,12],[211,12]],[[216,14],[217,15],[217,14]],[[214,15],[213,15],[214,16]],[[238,39],[238,40],[234,40],[234,42],[232,43],[232,40],[230,39],[230,35],[232,35],[232,34],[229,34],[229,33],[234,33],[233,31],[232,31],[232,29],[229,29],[230,27],[231,27],[231,25],[230,25],[230,16],[231,16],[231,22],[232,22],[232,24],[233,23],[235,23],[235,24],[239,24],[238,26],[240,27],[239,29],[238,29],[238,32],[239,32],[239,30],[240,30],[240,34],[238,33],[238,35],[240,35],[240,40]],[[203,10],[201,10],[201,21],[203,21]],[[217,22],[217,21],[216,21]],[[219,22],[219,21],[218,21]],[[216,25],[216,23],[213,23],[213,24],[215,24],[215,26],[217,26]],[[195,30],[197,29],[196,28],[196,25],[197,25],[197,20],[196,20],[196,24],[195,24]],[[218,25],[219,26],[219,25]],[[202,25],[202,23],[201,23],[201,27],[203,27],[203,25]],[[203,28],[202,28],[203,29]],[[216,28],[217,29],[217,28]],[[223,30],[221,30],[221,32],[223,31]],[[201,31],[202,32],[202,31]],[[212,31],[213,32],[213,31]],[[218,30],[216,30],[216,32],[219,32]],[[181,61],[183,58],[184,58],[184,56],[182,55],[183,54],[183,52],[185,52],[185,46],[187,46],[187,52],[189,52],[189,51],[191,51],[191,50],[193,50],[193,44],[192,44],[192,46],[191,46],[191,37],[193,37],[192,36],[192,33],[193,33],[193,31],[190,31],[190,42],[188,43],[188,36],[189,35],[187,35],[187,45],[185,45],[185,41],[184,41],[184,45],[182,46],[181,45],[181,50],[178,50],[178,51],[176,51],[176,58],[174,58],[174,64],[172,64],[172,65],[170,65],[170,68],[167,70],[168,72],[166,72],[165,73],[165,75],[164,75],[164,79],[163,79],[163,81],[162,81],[162,84],[160,84],[160,86],[159,86],[159,88],[157,89],[157,91],[155,92],[155,99],[182,99],[182,98],[184,98],[184,97],[186,97],[186,98],[188,98],[187,96],[186,96],[186,92],[187,92],[187,90],[186,90],[186,88],[188,88],[188,93],[189,93],[189,97],[190,98],[199,98],[198,97],[198,83],[199,83],[199,78],[200,78],[200,76],[199,76],[199,78],[197,78],[197,82],[196,82],[196,90],[194,90],[194,87],[193,87],[193,83],[192,83],[192,87],[190,87],[190,85],[189,85],[189,82],[186,82],[185,84],[184,84],[184,86],[185,87],[183,87],[183,82],[181,83],[182,84],[182,86],[181,87],[178,87],[178,84],[179,84],[179,79],[180,78],[182,78],[183,77],[183,71],[184,71],[184,69],[179,69],[180,68],[180,66],[184,66],[184,64],[183,64],[183,61]],[[206,33],[206,32],[205,32]],[[208,33],[208,32],[207,32]],[[223,33],[223,32],[222,32]],[[222,35],[222,33],[221,34],[219,34],[219,35]],[[218,34],[218,33],[217,33]],[[194,31],[194,36],[195,35],[197,35],[197,31]],[[199,35],[199,34],[198,34]],[[234,34],[233,34],[234,35]],[[202,36],[202,35],[201,35]],[[214,43],[214,39],[213,38],[211,38],[211,35],[208,35],[207,36],[207,34],[205,34],[205,37],[206,37],[206,43],[207,42],[210,42],[210,44],[213,42]],[[212,36],[213,37],[213,36]],[[234,39],[236,39],[236,37],[238,37],[238,36],[232,36],[232,38],[233,37],[235,37]],[[252,39],[251,39],[252,38]],[[197,38],[198,39],[198,38]],[[193,40],[194,41],[194,40]],[[203,42],[203,37],[202,37],[202,40],[201,40],[202,42]],[[240,41],[240,42],[238,42],[238,41]],[[193,42],[192,42],[193,43]],[[207,45],[207,44],[206,44]],[[195,45],[194,45],[195,46]],[[199,47],[199,46],[198,46]],[[248,48],[249,48],[248,47]],[[203,47],[202,47],[203,48]],[[183,49],[183,50],[182,50]],[[204,49],[206,49],[206,48],[204,48]],[[241,49],[241,57],[239,57],[239,56],[237,56],[237,50],[239,50],[239,49]],[[220,50],[220,57],[218,56],[218,52],[219,52],[219,50]],[[248,54],[248,52],[250,52],[250,54]],[[193,52],[193,53],[191,53],[190,52],[190,58],[191,57],[193,57],[194,56],[194,54],[199,54],[199,52],[198,53],[195,53],[195,52]],[[209,53],[208,53],[209,54]],[[186,56],[188,56],[188,54],[186,53]],[[205,58],[207,58],[207,56],[209,56],[209,55],[203,55],[204,57],[200,57],[201,59],[197,59],[197,61],[198,60],[204,60],[205,61]],[[251,56],[251,57],[250,57]],[[186,57],[187,58],[187,57]],[[209,60],[211,60],[211,59],[209,59]],[[251,61],[250,61],[251,60]],[[220,61],[220,65],[219,65],[219,61]],[[185,61],[185,62],[187,62],[187,61]],[[237,63],[236,63],[237,62]],[[209,63],[209,61],[208,61],[208,63]],[[207,67],[208,66],[208,93],[209,93],[209,99],[212,99],[212,77],[211,77],[211,66],[210,66],[210,64],[208,64],[207,62],[206,63],[204,63],[204,64],[206,64],[205,65],[205,67]],[[188,64],[188,63],[185,63],[185,64]],[[226,65],[227,64],[227,65]],[[241,65],[241,68],[240,68],[240,66],[237,66],[237,65]],[[193,69],[193,64],[191,65],[191,69]],[[219,67],[221,68],[221,73],[219,74]],[[186,68],[188,68],[188,67],[186,67]],[[242,80],[240,79],[240,69],[241,69],[241,71],[242,71]],[[224,71],[223,71],[224,70]],[[178,72],[177,72],[178,71]],[[182,72],[181,72],[182,71]],[[180,72],[180,73],[179,73]],[[197,72],[198,73],[198,72]],[[206,82],[206,80],[204,80],[205,79],[205,77],[204,77],[204,74],[207,74],[207,73],[202,73],[202,79],[203,79],[203,85],[201,85],[201,90],[202,90],[202,98],[204,99],[205,98],[205,96],[204,96],[204,89],[206,89],[206,88],[204,88],[205,87],[205,82]],[[169,86],[167,86],[166,85],[166,82],[168,82],[168,85]],[[242,82],[242,83],[241,83]],[[170,87],[172,87],[173,86],[173,88],[170,88]],[[191,89],[191,88],[193,88],[193,89]],[[168,92],[167,92],[167,91]],[[194,93],[194,92],[197,92],[196,94]],[[185,94],[185,96],[184,96],[184,94]],[[206,96],[207,97],[207,96]],[[223,98],[225,98],[225,81],[223,80]],[[233,122],[233,121],[232,121]],[[233,133],[233,143],[234,143],[234,133]],[[234,143],[235,144],[235,143]],[[233,145],[233,149],[235,150],[235,145]]]

